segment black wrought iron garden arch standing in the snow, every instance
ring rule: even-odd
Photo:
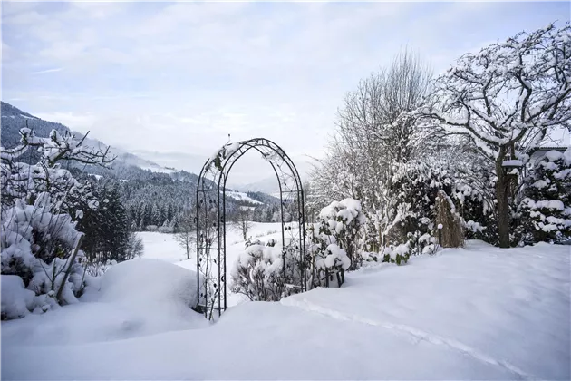
[[[226,181],[234,163],[256,150],[270,163],[279,183],[284,296],[306,289],[304,190],[294,162],[275,142],[263,138],[228,143],[208,159],[197,185],[198,309],[207,318],[227,308]]]

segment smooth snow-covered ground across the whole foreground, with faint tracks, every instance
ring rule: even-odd
[[[117,265],[82,303],[1,323],[0,378],[571,376],[568,246],[469,241],[351,273],[343,288],[242,303],[210,325],[183,307],[194,288],[191,272],[167,263],[184,263],[176,245],[143,237],[145,256],[162,261]]]

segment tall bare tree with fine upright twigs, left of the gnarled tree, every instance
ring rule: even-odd
[[[327,155],[313,171],[315,193],[328,200],[361,200],[382,242],[396,209],[391,187],[395,163],[415,154],[414,111],[428,93],[431,70],[405,49],[389,68],[363,79],[345,96]]]

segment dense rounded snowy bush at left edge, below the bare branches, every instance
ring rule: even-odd
[[[69,215],[48,210],[50,195],[44,192],[34,205],[16,200],[0,221],[0,274],[17,276],[34,292],[33,303],[26,305],[36,312],[56,306],[55,297],[64,304],[76,302],[82,288],[82,266],[71,258],[82,233]]]

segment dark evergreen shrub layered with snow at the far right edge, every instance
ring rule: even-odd
[[[548,151],[526,179],[518,205],[522,243],[563,242],[571,237],[571,149]]]

